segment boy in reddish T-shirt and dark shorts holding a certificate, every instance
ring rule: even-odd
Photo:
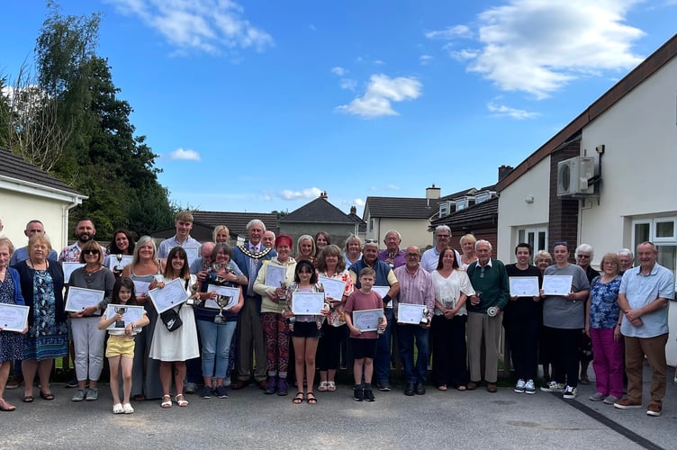
[[[353,311],[376,310],[384,308],[384,301],[381,295],[372,291],[375,283],[376,273],[371,267],[365,267],[359,273],[360,284],[362,287],[354,291],[348,297],[348,302],[344,307],[346,315],[346,324],[350,330],[350,344],[353,347],[353,356],[355,365],[353,365],[353,374],[355,376],[355,386],[353,387],[353,399],[355,401],[375,401],[374,392],[372,392],[372,374],[374,374],[374,356],[376,354],[376,341],[378,334],[375,331],[362,332],[353,325]],[[388,323],[383,316],[379,320],[378,329],[384,330]],[[362,365],[365,365],[365,383],[362,384]]]

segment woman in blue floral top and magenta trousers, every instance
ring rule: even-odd
[[[615,253],[601,258],[602,275],[592,280],[590,297],[585,305],[585,332],[592,339],[595,359],[592,369],[597,379],[597,392],[591,401],[613,404],[623,393],[623,340],[618,307],[621,276],[620,260]]]

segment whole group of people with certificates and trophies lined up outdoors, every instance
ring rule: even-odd
[[[537,392],[540,364],[540,390],[575,399],[592,362],[591,401],[642,408],[646,357],[646,413],[662,413],[674,277],[650,242],[637,246],[637,266],[623,249],[605,254],[598,272],[587,244],[575,247],[573,264],[567,242],[555,242],[552,256],[519,243],[516,262],[504,265],[472,234],[457,251],[446,225],[423,253],[400,248],[396,230],[380,250],[357,236],[338,247],[321,231],[294,242],[261,220],[248,223],[243,245],[230,246],[225,225],[201,244],[192,227],[180,211],[176,235],[158,247],[125,229],[103,247],[84,218],[59,255],[40,220],[26,226],[26,247],[0,238],[0,303],[29,307],[23,329],[0,329],[0,410],[15,410],[4,397],[13,366],[24,402],[34,401],[36,374],[41,399],[53,400],[50,374],[65,356],[75,366],[72,401],[98,399],[108,358],[115,414],[133,413],[132,400],[186,407],[198,384],[204,400],[257,383],[269,395],[295,387],[294,404],[316,404],[316,369],[317,390],[336,392],[341,361],[353,362],[354,400],[375,401],[375,391],[392,390],[393,351],[405,395],[426,393],[431,358],[439,391],[497,392],[502,326],[514,392]]]

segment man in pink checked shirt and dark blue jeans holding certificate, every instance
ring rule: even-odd
[[[407,247],[407,264],[395,269],[395,276],[400,283],[400,296],[395,302],[395,316],[403,303],[425,305],[425,321],[418,324],[398,323],[397,340],[400,344],[400,360],[404,367],[404,395],[423,395],[426,393],[426,375],[430,357],[429,329],[432,313],[435,310],[435,289],[432,275],[420,266],[420,249]],[[414,339],[416,339],[416,366],[414,367]]]

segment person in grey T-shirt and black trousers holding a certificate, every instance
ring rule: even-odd
[[[554,372],[554,380],[542,386],[541,390],[564,392],[564,399],[573,400],[578,394],[579,342],[585,327],[585,301],[588,300],[590,284],[583,269],[569,263],[566,242],[555,242],[553,253],[555,266],[546,268],[544,276],[571,276],[572,286],[571,291],[564,295],[545,296],[541,290],[541,297],[545,296],[544,333],[552,352]]]

